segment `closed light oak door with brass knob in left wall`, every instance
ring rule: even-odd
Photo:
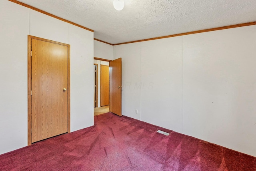
[[[32,39],[31,47],[34,143],[68,132],[68,46]]]

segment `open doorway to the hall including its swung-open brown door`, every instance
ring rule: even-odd
[[[97,64],[98,72],[94,80],[94,95],[97,96],[98,103],[94,107],[94,115],[107,113],[108,111],[122,116],[122,58],[116,60],[106,60],[94,57],[94,65]],[[94,70],[95,70],[94,66]],[[102,72],[106,72],[102,74]],[[99,73],[101,76],[99,76]],[[104,78],[103,75],[108,78]],[[98,77],[98,78],[97,78]],[[103,85],[103,83],[105,83]],[[94,103],[95,103],[94,98]],[[100,108],[102,107],[102,108]],[[100,111],[97,111],[100,110]],[[99,112],[99,113],[96,113]]]

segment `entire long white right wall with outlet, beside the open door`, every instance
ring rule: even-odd
[[[122,113],[256,156],[255,44],[246,26],[114,46]]]

